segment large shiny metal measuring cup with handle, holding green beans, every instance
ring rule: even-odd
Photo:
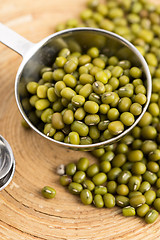
[[[136,47],[121,36],[97,28],[74,28],[54,33],[39,43],[34,44],[1,23],[0,32],[0,41],[23,56],[23,61],[18,69],[15,82],[15,96],[19,110],[30,127],[48,140],[73,150],[92,151],[93,149],[105,147],[120,140],[137,125],[147,110],[152,88],[151,75],[148,65]],[[128,59],[135,66],[142,68],[147,88],[147,101],[143,107],[142,113],[137,117],[134,124],[121,134],[109,140],[89,145],[72,145],[64,142],[58,142],[42,133],[29,119],[28,113],[22,104],[22,100],[26,96],[26,84],[29,81],[38,81],[40,69],[43,66],[51,65],[62,48],[68,47],[71,51],[82,50],[83,52],[83,50],[92,46],[98,47],[100,50],[104,50],[108,56],[116,55],[121,60]]]

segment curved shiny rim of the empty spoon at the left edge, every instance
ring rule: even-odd
[[[9,145],[9,143],[7,142],[7,140],[4,137],[2,137],[1,135],[0,135],[0,139],[2,139],[3,143],[5,144],[5,147],[8,149],[9,154],[10,154],[10,158],[11,158],[11,162],[12,162],[12,166],[10,168],[10,171],[3,177],[3,178],[6,178],[9,175],[6,183],[3,184],[0,187],[0,191],[1,191],[11,182],[11,180],[13,178],[13,175],[14,175],[14,172],[15,172],[15,158],[14,158],[14,155],[13,155],[12,148]],[[2,181],[2,179],[0,179],[0,181]]]

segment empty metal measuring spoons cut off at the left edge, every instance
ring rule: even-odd
[[[12,180],[15,171],[15,159],[8,142],[0,136],[0,190]]]

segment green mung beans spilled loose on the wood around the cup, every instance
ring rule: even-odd
[[[80,20],[59,24],[56,31],[73,27],[113,31],[132,42],[146,59],[152,76],[152,95],[139,124],[119,143],[94,150],[99,159],[66,166],[60,183],[82,203],[122,207],[124,216],[144,217],[153,223],[160,212],[160,5],[146,0],[90,0]]]

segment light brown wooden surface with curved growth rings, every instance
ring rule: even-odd
[[[78,16],[86,0],[0,0],[0,21],[30,41],[38,42],[54,26]],[[159,2],[159,0],[157,1]],[[1,33],[0,33],[1,34]],[[16,159],[12,182],[0,193],[0,240],[158,240],[160,217],[146,225],[138,217],[124,218],[119,208],[84,206],[60,186],[56,167],[89,153],[55,146],[32,130],[21,127],[14,97],[14,79],[21,57],[0,44],[0,134],[10,143]],[[55,199],[40,190],[50,185]]]

